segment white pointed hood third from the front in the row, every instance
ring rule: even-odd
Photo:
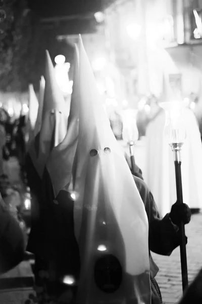
[[[37,161],[35,167],[42,178],[44,166],[51,150],[61,143],[67,133],[68,113],[65,99],[56,82],[54,66],[46,51],[45,91],[40,133],[35,138]],[[30,154],[31,156],[31,154]]]

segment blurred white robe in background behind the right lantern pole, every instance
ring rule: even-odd
[[[184,109],[186,139],[181,152],[183,202],[190,208],[202,207],[202,145],[193,112]],[[149,123],[146,130],[146,166],[143,177],[162,216],[176,202],[173,151],[164,135],[165,113]]]

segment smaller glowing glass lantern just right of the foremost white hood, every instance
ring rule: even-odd
[[[137,116],[137,110],[128,109],[128,110],[124,110],[122,113],[122,119],[123,119],[122,137],[123,140],[127,142],[127,144],[129,145],[131,169],[133,174],[136,173],[134,145],[139,137],[137,124],[136,124],[136,116]]]

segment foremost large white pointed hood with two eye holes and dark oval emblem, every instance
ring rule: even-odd
[[[145,208],[110,128],[81,39],[79,55],[74,224],[81,272],[76,301],[147,304],[150,278]],[[110,281],[102,281],[105,276]]]

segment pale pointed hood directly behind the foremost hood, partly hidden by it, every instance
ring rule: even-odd
[[[72,175],[72,166],[78,139],[79,115],[79,53],[75,45],[74,85],[71,97],[68,129],[65,139],[55,147],[47,160],[46,168],[51,177],[55,197],[60,189],[68,186]]]

